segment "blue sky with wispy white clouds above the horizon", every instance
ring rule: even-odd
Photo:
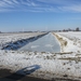
[[[81,29],[81,0],[0,0],[0,30]]]

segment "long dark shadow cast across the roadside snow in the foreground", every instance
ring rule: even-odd
[[[38,69],[40,69],[39,65],[29,66],[29,67],[23,68],[21,70],[17,70],[16,72],[14,72],[8,77],[1,78],[0,81],[3,81],[3,79],[21,80],[22,78],[26,77],[27,75],[31,75],[32,72],[35,72]]]

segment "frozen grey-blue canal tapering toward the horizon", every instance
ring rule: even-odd
[[[28,43],[19,49],[19,51],[37,51],[37,52],[60,52],[60,46],[53,33],[48,33],[38,40]]]

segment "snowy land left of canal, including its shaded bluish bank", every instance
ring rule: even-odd
[[[0,49],[2,50],[17,50],[28,42],[31,42],[42,36],[44,32],[32,33],[1,33],[0,36]]]

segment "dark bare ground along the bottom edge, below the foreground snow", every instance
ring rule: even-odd
[[[11,72],[10,69],[0,69],[0,81],[80,81],[69,79],[67,75],[64,78],[52,78],[51,80],[35,78],[29,76],[23,76]]]

